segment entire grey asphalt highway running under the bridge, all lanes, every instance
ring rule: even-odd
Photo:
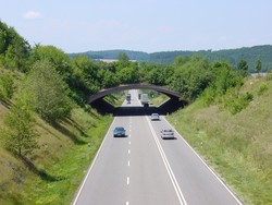
[[[160,138],[160,130],[172,125],[143,114],[148,108],[140,107],[137,91],[129,92],[132,104],[123,107],[134,114],[114,118],[72,204],[242,204],[178,133]],[[126,137],[113,137],[118,125]]]

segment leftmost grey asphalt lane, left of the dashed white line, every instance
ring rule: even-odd
[[[114,141],[112,130],[116,124],[122,124],[125,129],[128,124],[121,119],[115,119],[106,136],[103,146],[91,171],[85,181],[85,184],[74,204],[124,204],[126,166],[127,160],[127,142],[126,137]],[[114,147],[114,148],[112,148]]]

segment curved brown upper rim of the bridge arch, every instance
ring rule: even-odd
[[[143,85],[143,84],[129,84],[129,85],[120,85],[116,87],[111,87],[108,89],[103,89],[97,94],[94,94],[91,96],[89,96],[87,104],[92,104],[94,101],[98,100],[98,99],[102,99],[104,96],[110,95],[112,93],[116,93],[116,92],[121,92],[121,91],[127,91],[127,89],[152,89],[152,91],[157,91],[159,93],[165,94],[166,96],[169,96],[171,99],[176,99],[176,100],[184,100],[187,101],[186,99],[182,99],[182,96],[176,93],[173,92],[169,88],[162,87],[162,86],[158,86],[158,85]]]

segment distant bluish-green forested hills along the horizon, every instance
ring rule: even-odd
[[[141,52],[132,50],[104,50],[104,51],[87,51],[81,53],[70,53],[70,57],[86,55],[90,59],[118,59],[120,52],[125,52],[131,60],[144,60],[152,64],[171,64],[177,56],[190,57],[200,56],[210,61],[214,60],[226,60],[230,61],[234,67],[237,67],[238,62],[243,59],[246,60],[250,72],[255,72],[256,63],[258,60],[261,61],[262,72],[272,70],[272,46],[255,46],[245,47],[237,49],[225,49],[225,50],[199,50],[199,51],[162,51],[162,52]]]

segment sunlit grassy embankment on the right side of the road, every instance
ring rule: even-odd
[[[245,204],[272,204],[272,81],[249,77],[252,101],[236,114],[201,99],[169,117]]]

